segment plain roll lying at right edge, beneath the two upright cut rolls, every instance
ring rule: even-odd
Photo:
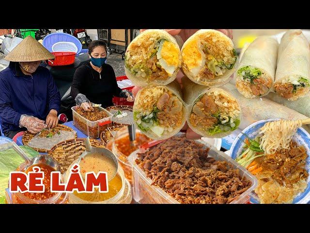
[[[308,93],[305,97],[295,101],[286,100],[285,98],[273,92],[270,92],[265,98],[283,104],[298,113],[310,117],[310,93]]]

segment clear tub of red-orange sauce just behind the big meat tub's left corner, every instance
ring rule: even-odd
[[[149,138],[148,138],[149,139],[148,140],[146,138],[147,137],[144,134],[142,134],[140,132],[140,130],[136,130],[136,141],[134,143],[134,147],[136,149],[138,149],[140,147],[140,145],[139,145],[140,139],[141,139],[142,144],[147,143],[147,142],[152,140]],[[118,162],[119,162],[119,165],[121,165],[123,167],[126,179],[133,186],[132,165],[128,161],[128,156],[130,155],[130,153],[126,155],[126,154],[122,153],[120,150],[118,150],[118,147],[117,147],[118,143],[124,143],[124,142],[121,142],[122,139],[123,140],[128,139],[128,143],[129,143],[129,132],[128,132],[127,127],[124,127],[123,129],[116,132],[116,136],[114,137],[113,142],[112,142],[112,152],[116,155]],[[146,140],[144,140],[144,139],[146,139]],[[128,143],[126,142],[126,144],[128,144]],[[131,151],[133,151],[133,150],[131,150]]]

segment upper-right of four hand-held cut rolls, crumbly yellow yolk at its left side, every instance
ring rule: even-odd
[[[194,83],[221,86],[235,70],[237,53],[233,41],[216,30],[201,29],[181,49],[182,70]]]

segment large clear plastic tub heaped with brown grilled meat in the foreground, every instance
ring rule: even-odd
[[[177,134],[181,135],[180,133]],[[210,148],[208,155],[214,158],[217,161],[227,161],[228,163],[233,165],[234,169],[240,170],[240,176],[245,177],[249,181],[251,181],[252,185],[242,193],[237,199],[233,200],[230,204],[243,204],[248,203],[249,194],[252,190],[254,190],[257,186],[257,179],[253,176],[247,169],[243,166],[240,166],[236,163],[232,158],[227,156],[224,152],[218,151],[214,146],[209,145],[208,143],[202,140],[196,140],[198,143],[202,143],[206,148]],[[158,186],[151,185],[152,180],[146,177],[145,172],[136,164],[135,160],[137,158],[137,153],[143,152],[141,150],[134,151],[129,157],[128,160],[133,166],[134,173],[134,188],[133,188],[133,198],[135,201],[139,203],[156,203],[156,204],[179,204],[177,200],[172,198],[169,194],[167,194],[164,190],[159,188]]]

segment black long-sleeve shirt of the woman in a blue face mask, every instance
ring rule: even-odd
[[[101,79],[99,72],[91,67],[90,62],[85,62],[74,73],[71,85],[73,99],[79,93],[84,94],[93,103],[101,103],[106,108],[113,105],[113,96],[122,97],[121,88],[118,87],[113,68],[108,64],[102,65]]]

